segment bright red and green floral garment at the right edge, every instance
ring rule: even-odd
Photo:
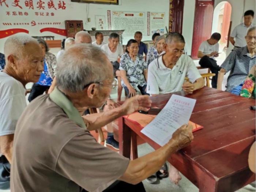
[[[253,65],[249,75],[246,77],[244,84],[242,86],[242,90],[240,92],[240,96],[255,99],[255,70],[256,65]]]

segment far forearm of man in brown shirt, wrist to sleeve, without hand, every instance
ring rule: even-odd
[[[87,130],[92,131],[111,123],[113,120],[123,115],[125,114],[122,108],[118,107],[106,112],[86,115],[83,116],[83,118],[85,119],[85,123],[87,124]]]

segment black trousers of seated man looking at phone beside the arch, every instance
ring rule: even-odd
[[[219,73],[219,70],[221,70],[221,67],[219,67],[219,65],[217,65],[217,61],[208,56],[203,56],[199,61],[199,65],[201,65],[201,67],[210,68],[211,72],[215,74],[215,76],[212,77],[211,86],[212,86],[212,88],[216,89],[218,73]]]

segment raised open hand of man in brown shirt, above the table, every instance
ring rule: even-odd
[[[138,110],[148,111],[151,107],[152,101],[148,95],[136,95],[127,99],[123,105],[121,105],[124,115],[131,114]]]

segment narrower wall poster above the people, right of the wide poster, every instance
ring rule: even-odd
[[[150,35],[154,33],[165,34],[165,13],[150,12]]]

